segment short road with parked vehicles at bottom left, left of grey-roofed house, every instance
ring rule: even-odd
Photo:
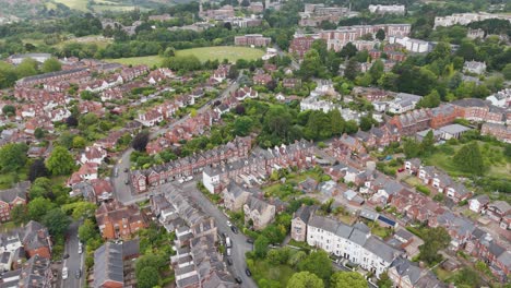
[[[60,287],[73,287],[81,288],[84,281],[84,263],[85,263],[85,253],[79,254],[79,239],[78,239],[78,229],[80,227],[79,221],[74,221],[69,226],[68,235],[69,239],[66,241],[64,254],[69,254],[69,259],[63,261],[63,267],[68,267],[68,279],[62,279]],[[85,249],[85,247],[84,247]],[[74,273],[81,269],[82,276],[80,279],[74,277]]]

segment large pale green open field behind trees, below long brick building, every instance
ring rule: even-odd
[[[255,60],[264,55],[263,50],[249,47],[235,47],[235,46],[215,46],[215,47],[201,47],[176,51],[177,56],[195,56],[204,62],[206,60],[222,61],[224,59],[229,62],[236,62],[238,59]]]

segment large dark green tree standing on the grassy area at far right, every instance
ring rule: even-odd
[[[482,176],[485,172],[483,155],[477,142],[471,142],[456,152],[453,163],[464,172]]]

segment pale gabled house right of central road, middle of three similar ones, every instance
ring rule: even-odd
[[[254,230],[264,229],[275,218],[275,206],[254,196],[243,205],[245,224],[252,223]]]

